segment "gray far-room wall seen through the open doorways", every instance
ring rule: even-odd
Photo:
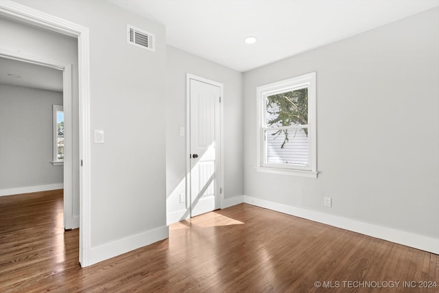
[[[0,191],[63,183],[53,161],[52,105],[62,93],[0,84]]]

